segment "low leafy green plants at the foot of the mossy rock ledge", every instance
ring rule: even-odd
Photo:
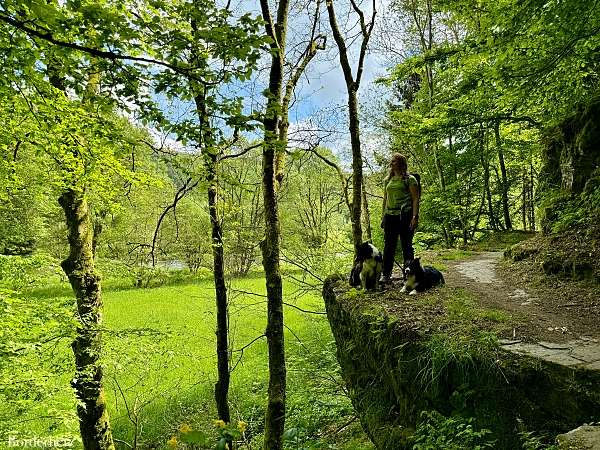
[[[423,411],[414,434],[413,450],[481,450],[494,448],[490,430],[477,430],[473,418],[445,417],[437,411]]]

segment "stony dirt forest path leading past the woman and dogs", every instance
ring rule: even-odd
[[[476,253],[450,265],[444,273],[446,283],[474,294],[480,306],[504,310],[513,317],[512,336],[500,341],[505,349],[600,371],[597,320],[583,317],[560,291],[548,292],[510,278],[499,270],[501,259],[502,252]]]

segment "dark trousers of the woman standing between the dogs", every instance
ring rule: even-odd
[[[402,257],[404,263],[410,259],[414,259],[415,251],[412,246],[413,230],[410,228],[412,213],[401,214],[399,216],[385,215],[385,223],[383,224],[383,237],[385,245],[383,248],[383,275],[390,276],[394,268],[394,255],[396,254],[396,245],[398,237],[400,237],[400,245],[402,246]]]

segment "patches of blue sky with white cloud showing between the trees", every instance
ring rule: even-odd
[[[388,3],[388,0],[378,0],[378,10]],[[339,2],[339,4],[343,4]],[[366,5],[370,6],[370,2],[366,1]],[[257,5],[255,0],[240,0],[234,6],[235,10],[243,14],[251,11],[258,13],[252,9]],[[370,16],[370,7],[367,7],[367,17]],[[339,63],[337,46],[331,36],[329,24],[326,17],[326,11],[323,5],[322,20],[320,27],[322,32],[327,34],[327,48],[324,51],[319,51],[317,56],[311,61],[304,76],[295,91],[295,101],[290,107],[290,138],[292,145],[296,143],[301,145],[297,140],[314,139],[318,136],[322,145],[330,147],[334,153],[338,154],[342,160],[347,160],[350,153],[349,134],[347,131],[347,91],[344,81],[342,69]],[[344,16],[338,11],[340,26],[351,25],[352,22],[344,22]],[[310,18],[308,14],[303,14],[302,11],[297,11],[297,15],[290,17],[290,27],[288,31],[288,48],[304,48],[302,41],[306,40],[310,28]],[[349,49],[351,65],[353,73],[356,74],[356,63],[358,45],[355,42],[354,46]],[[290,61],[295,61],[296,55],[290,56]],[[248,110],[261,109],[264,103],[262,91],[268,81],[268,63],[269,58],[264,58],[261,62],[262,67],[256,72],[254,79],[251,82],[244,83],[243,86],[231,86],[228,91],[235,91],[236,94],[243,95],[245,106]],[[374,85],[374,80],[385,74],[385,68],[381,59],[375,54],[367,54],[364,64],[364,72],[361,80],[359,91],[359,99],[362,111],[378,113],[381,109],[381,97],[384,95],[381,87]],[[186,110],[191,110],[191,105],[176,104],[169,107],[166,102],[161,102],[165,110],[170,110],[169,114],[172,118],[181,115]],[[193,114],[193,111],[191,111]],[[321,133],[316,130],[323,129]],[[310,130],[310,131],[308,131]],[[382,138],[380,132],[372,129],[372,124],[368,120],[361,120],[362,141],[365,147],[369,146],[380,147],[382,144],[379,140]],[[258,134],[256,135],[258,137]],[[252,136],[250,136],[252,138]],[[175,143],[172,143],[175,145]],[[177,146],[177,145],[175,145]],[[368,151],[367,151],[368,153]]]

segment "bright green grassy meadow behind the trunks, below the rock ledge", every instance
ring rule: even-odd
[[[69,296],[52,297],[63,295],[62,289],[50,286],[30,291],[28,296],[32,305],[71,301]],[[295,290],[284,283],[287,303],[323,311],[319,293],[298,296]],[[268,380],[267,347],[260,338],[266,325],[264,293],[262,277],[231,280],[230,335],[235,370],[230,403],[233,420],[248,423],[246,435],[254,444],[252,448],[259,448],[261,441]],[[183,423],[216,436],[212,283],[107,290],[103,298],[104,380],[117,448],[128,448],[123,442],[131,444],[136,430],[141,448],[166,448],[167,440],[178,435]],[[357,421],[338,430],[351,419],[353,411],[349,399],[341,395],[335,345],[326,317],[285,307],[285,320],[286,428],[299,430],[299,445],[304,448],[372,449]],[[44,357],[41,364],[51,375],[43,383],[46,394],[38,401],[23,403],[18,415],[0,407],[0,417],[4,413],[9,419],[4,437],[7,432],[23,437],[77,436],[69,387],[74,371],[69,345],[70,337],[65,337],[36,353]],[[18,370],[22,378],[27,378],[34,364],[35,358],[21,361]]]

